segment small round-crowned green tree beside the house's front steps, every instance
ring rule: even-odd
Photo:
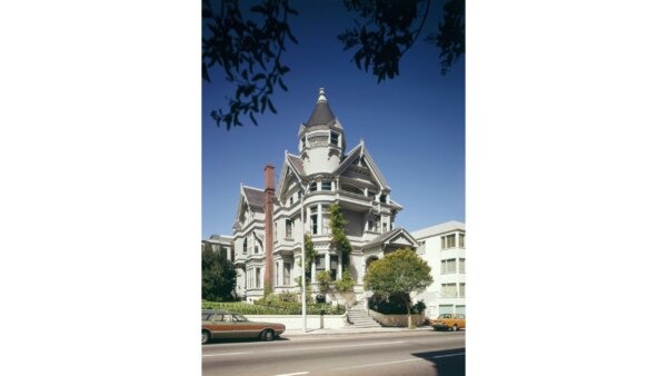
[[[412,328],[411,293],[420,293],[434,283],[430,267],[412,249],[401,248],[372,264],[364,277],[366,289],[388,300],[400,297],[408,315],[408,327]]]

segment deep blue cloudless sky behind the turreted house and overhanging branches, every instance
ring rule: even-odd
[[[272,101],[278,113],[266,111],[243,127],[227,131],[210,118],[231,92],[219,73],[202,82],[202,238],[230,235],[239,186],[263,188],[263,167],[280,174],[285,150],[296,154],[299,125],[308,120],[318,89],[345,129],[347,150],[364,139],[391,187],[391,198],[404,206],[396,225],[408,230],[447,220],[466,220],[465,212],[465,59],[440,75],[438,50],[422,41],[437,26],[441,3],[431,3],[425,32],[400,61],[400,75],[377,83],[357,68],[352,51],[342,51],[336,36],[354,24],[342,1],[298,1],[299,16],[290,27],[282,62],[290,67]]]

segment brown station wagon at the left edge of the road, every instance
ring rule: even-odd
[[[201,310],[201,343],[212,338],[260,338],[273,340],[285,332],[285,325],[250,321],[243,315],[221,309]]]

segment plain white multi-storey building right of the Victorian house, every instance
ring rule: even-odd
[[[424,299],[429,318],[440,314],[465,314],[466,225],[450,220],[411,235],[419,245],[417,254],[426,259],[434,277],[434,283],[414,301]]]

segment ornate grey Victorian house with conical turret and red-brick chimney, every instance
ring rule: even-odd
[[[298,154],[285,151],[277,185],[272,166],[263,172],[262,189],[241,185],[232,227],[237,294],[248,300],[260,298],[265,286],[275,293],[298,290],[303,230],[318,254],[311,280],[320,270],[341,278],[341,255],[329,229],[329,207],[335,202],[348,221],[349,268],[359,298],[370,263],[398,248],[418,246],[408,231],[395,228],[402,207],[392,199],[364,141],[348,151],[342,125],[323,89],[310,118],[299,127]]]

